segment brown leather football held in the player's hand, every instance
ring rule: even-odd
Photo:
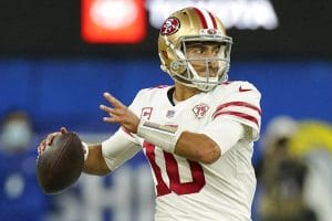
[[[75,133],[60,134],[37,159],[39,185],[48,194],[71,187],[81,176],[84,166],[82,141]]]

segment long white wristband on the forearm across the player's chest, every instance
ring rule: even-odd
[[[165,151],[174,152],[180,131],[177,126],[159,125],[141,119],[137,135]]]

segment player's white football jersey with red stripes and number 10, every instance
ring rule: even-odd
[[[246,133],[210,165],[187,160],[136,139],[152,167],[155,220],[251,220],[256,189],[251,156],[260,130],[260,93],[248,82],[228,82],[173,105],[167,96],[169,90],[170,86],[142,90],[129,108],[146,120],[206,134],[220,147],[218,133],[222,133],[222,119],[241,123]]]

